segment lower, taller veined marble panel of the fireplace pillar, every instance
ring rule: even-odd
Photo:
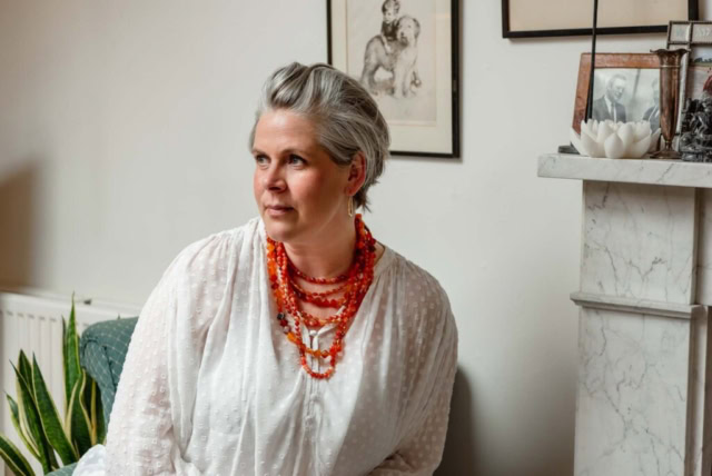
[[[582,308],[576,476],[685,475],[690,323]]]

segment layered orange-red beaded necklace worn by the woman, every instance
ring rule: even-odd
[[[370,235],[360,215],[356,215],[354,225],[356,227],[354,259],[348,271],[336,278],[314,278],[305,275],[289,261],[284,244],[267,237],[267,269],[275,301],[277,303],[277,320],[287,339],[298,348],[301,367],[314,378],[329,378],[334,374],[336,357],[342,353],[348,323],[358,311],[358,307],[374,280],[376,240]],[[314,285],[338,286],[323,291],[309,291],[295,281],[295,276]],[[342,291],[344,292],[342,298],[328,298]],[[338,308],[338,310],[329,317],[318,318],[301,309],[300,303],[304,301],[322,308]],[[291,316],[294,325],[289,323],[287,316]],[[306,346],[301,340],[301,323],[307,327],[314,328],[322,328],[327,324],[336,324],[336,336],[329,349],[312,349]],[[329,368],[324,373],[313,370],[307,363],[307,354],[318,359],[328,359]]]

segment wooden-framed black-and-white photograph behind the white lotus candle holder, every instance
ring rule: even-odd
[[[591,53],[581,54],[573,128],[586,115]],[[660,60],[654,53],[596,53],[592,116],[616,122],[649,120],[660,127]]]

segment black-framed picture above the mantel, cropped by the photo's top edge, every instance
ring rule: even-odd
[[[600,34],[665,32],[670,20],[698,20],[698,0],[599,2]],[[593,0],[502,0],[504,38],[591,34]]]

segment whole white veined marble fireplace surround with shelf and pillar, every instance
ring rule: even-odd
[[[583,180],[576,476],[712,476],[712,163],[538,158]]]

